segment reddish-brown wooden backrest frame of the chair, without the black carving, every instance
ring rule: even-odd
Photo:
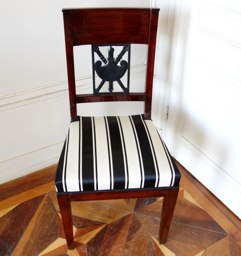
[[[159,8],[65,8],[63,12],[71,120],[77,103],[144,101],[151,118],[155,44]],[[145,93],[76,95],[73,47],[87,44],[147,44]]]

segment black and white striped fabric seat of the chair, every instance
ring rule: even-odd
[[[172,187],[180,172],[143,115],[78,117],[57,167],[57,192]]]

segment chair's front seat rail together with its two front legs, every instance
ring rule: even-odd
[[[63,228],[69,250],[74,249],[74,234],[71,214],[71,201],[89,201],[89,200],[111,200],[125,198],[148,198],[163,196],[163,206],[161,211],[161,223],[159,229],[159,243],[165,244],[168,231],[171,225],[172,216],[178,198],[178,188],[169,189],[148,189],[132,191],[108,191],[96,193],[78,193],[78,194],[57,194],[59,209],[62,217]]]

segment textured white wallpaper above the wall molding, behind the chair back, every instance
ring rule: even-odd
[[[0,97],[67,81],[62,8],[149,5],[149,0],[1,0]],[[76,78],[92,75],[90,49],[74,47]],[[146,50],[131,46],[131,66],[145,62]]]

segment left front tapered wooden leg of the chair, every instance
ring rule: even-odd
[[[74,250],[74,234],[69,195],[57,195],[63,229],[69,250]]]

